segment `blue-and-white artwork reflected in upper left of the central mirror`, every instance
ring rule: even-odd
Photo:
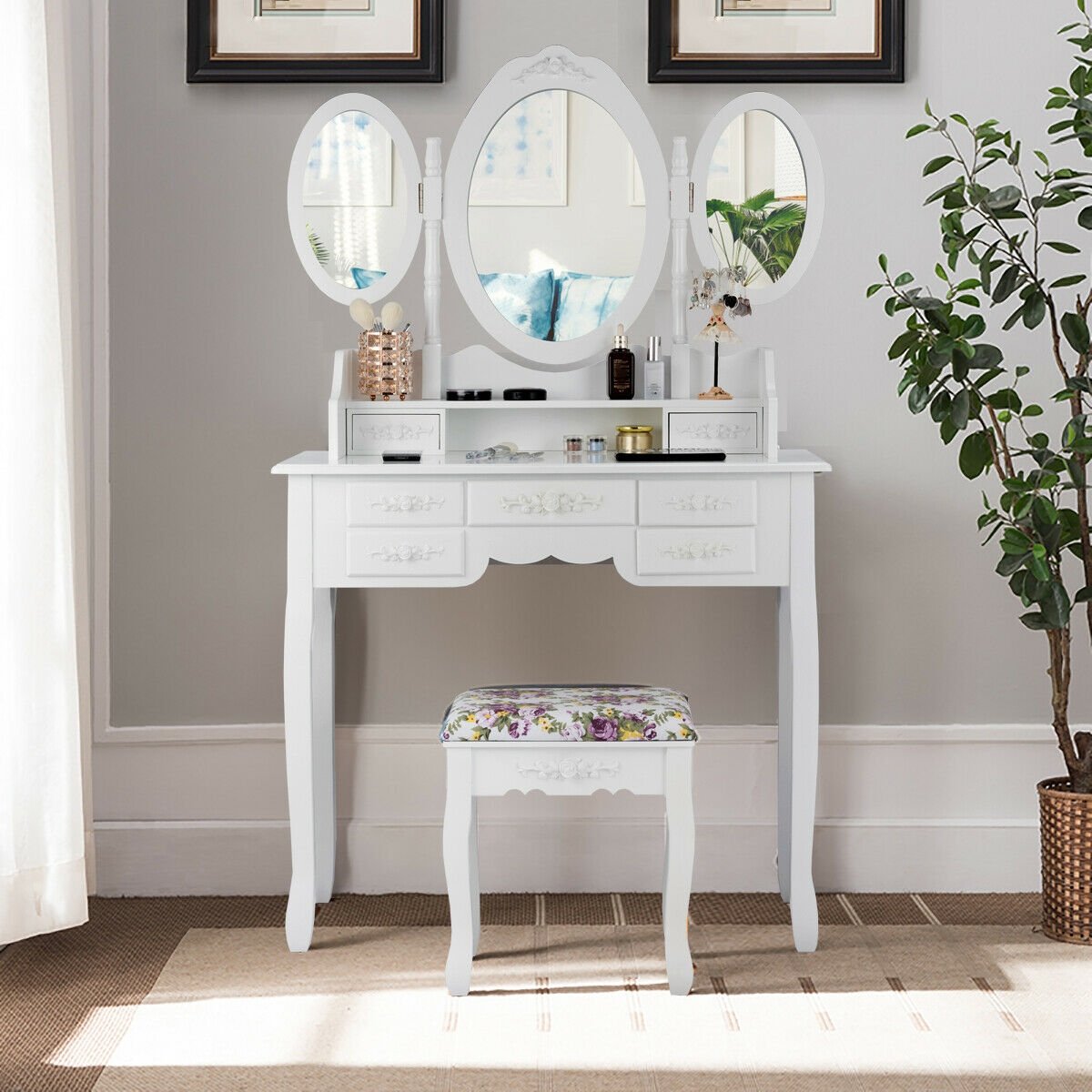
[[[539,91],[517,103],[482,145],[471,204],[568,204],[568,114],[566,91]]]

